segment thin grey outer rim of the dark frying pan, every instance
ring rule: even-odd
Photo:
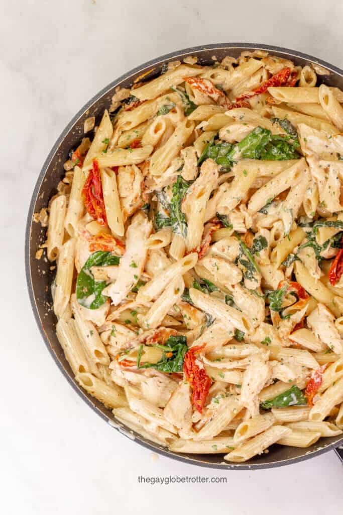
[[[38,193],[40,191],[42,182],[44,181],[48,167],[49,167],[51,161],[53,160],[53,157],[55,156],[56,152],[58,151],[59,146],[64,141],[66,135],[69,133],[70,129],[75,125],[75,123],[78,121],[78,119],[85,113],[85,111],[87,111],[87,109],[91,108],[91,106],[95,102],[97,102],[101,97],[103,97],[106,93],[108,93],[110,90],[112,90],[116,85],[120,84],[125,79],[133,76],[136,73],[143,72],[144,70],[146,70],[146,68],[149,68],[153,65],[157,65],[163,61],[175,59],[178,56],[184,57],[184,56],[186,56],[188,54],[192,54],[194,52],[201,52],[204,50],[215,50],[215,49],[221,50],[224,48],[227,48],[228,50],[237,48],[237,49],[240,49],[241,51],[243,51],[245,49],[247,49],[247,50],[259,49],[259,50],[267,50],[268,52],[283,53],[283,54],[287,54],[290,57],[295,57],[295,58],[300,57],[302,59],[306,59],[313,63],[319,64],[319,65],[327,68],[328,70],[334,72],[335,74],[338,74],[341,77],[343,77],[343,71],[340,68],[338,68],[337,66],[330,64],[326,61],[323,61],[322,59],[318,59],[309,54],[304,54],[304,53],[298,52],[297,50],[274,46],[274,45],[268,45],[268,44],[258,44],[258,43],[212,43],[209,45],[199,45],[199,46],[194,46],[194,47],[190,47],[190,48],[183,48],[180,50],[175,50],[174,52],[159,56],[155,59],[151,59],[139,66],[136,66],[129,72],[121,75],[120,77],[118,77],[117,79],[112,81],[111,83],[107,84],[106,87],[104,87],[97,94],[95,94],[90,100],[88,100],[86,102],[86,104],[75,114],[75,116],[71,119],[71,121],[67,124],[67,126],[63,129],[63,131],[59,135],[58,139],[56,140],[55,144],[52,146],[46,160],[43,163],[42,169],[40,171],[40,174],[37,178],[37,181],[35,183],[35,186],[34,186],[34,189],[32,192],[32,197],[30,200],[29,210],[28,210],[28,215],[27,215],[27,220],[26,220],[26,229],[25,229],[26,283],[27,283],[30,303],[31,303],[35,321],[38,325],[38,328],[39,328],[42,338],[44,340],[45,346],[47,347],[53,360],[57,364],[57,366],[60,369],[60,371],[62,372],[62,374],[66,377],[68,383],[77,392],[79,397],[81,397],[95,411],[95,413],[97,413],[103,420],[105,420],[107,423],[109,423],[117,431],[119,431],[121,434],[123,434],[127,438],[134,439],[134,441],[136,443],[142,445],[142,447],[145,447],[145,448],[149,449],[150,451],[153,451],[157,454],[166,456],[168,458],[175,459],[177,461],[182,461],[189,465],[195,465],[198,467],[204,467],[204,468],[209,468],[209,469],[221,469],[221,470],[267,469],[267,468],[275,468],[275,467],[291,465],[291,464],[294,464],[295,462],[300,462],[300,461],[308,460],[315,456],[319,456],[320,454],[326,453],[332,449],[339,447],[340,445],[343,445],[343,437],[340,438],[336,442],[328,443],[327,445],[323,445],[322,447],[320,447],[319,449],[316,449],[314,451],[307,451],[307,452],[305,451],[304,454],[301,456],[292,457],[292,458],[283,458],[282,460],[277,460],[277,461],[274,461],[271,463],[261,463],[261,464],[257,463],[257,464],[249,465],[248,463],[230,464],[229,462],[228,463],[223,462],[223,463],[219,463],[219,464],[214,464],[214,463],[209,463],[209,462],[205,462],[205,461],[200,461],[198,458],[189,457],[189,455],[187,455],[187,456],[180,455],[180,454],[168,451],[168,450],[164,450],[160,447],[155,447],[155,444],[153,442],[148,443],[147,441],[142,440],[141,437],[139,437],[139,435],[134,436],[131,433],[131,430],[129,430],[129,428],[125,428],[125,426],[123,426],[123,428],[124,428],[124,431],[123,431],[123,429],[119,425],[119,423],[118,424],[115,423],[112,419],[110,419],[104,413],[102,413],[102,411],[95,404],[93,404],[91,400],[89,400],[87,398],[87,396],[84,394],[84,392],[80,388],[78,388],[75,381],[73,381],[71,376],[68,374],[68,372],[65,370],[65,368],[60,363],[56,354],[53,352],[50,342],[49,342],[49,338],[47,337],[47,335],[44,331],[44,325],[43,325],[42,320],[39,315],[38,306],[37,306],[37,303],[36,303],[36,300],[34,297],[34,293],[33,293],[33,283],[32,283],[32,277],[31,277],[31,265],[30,265],[31,237],[30,236],[31,236],[32,217],[33,217],[35,203],[37,202]],[[130,434],[128,434],[128,433],[130,433]]]

